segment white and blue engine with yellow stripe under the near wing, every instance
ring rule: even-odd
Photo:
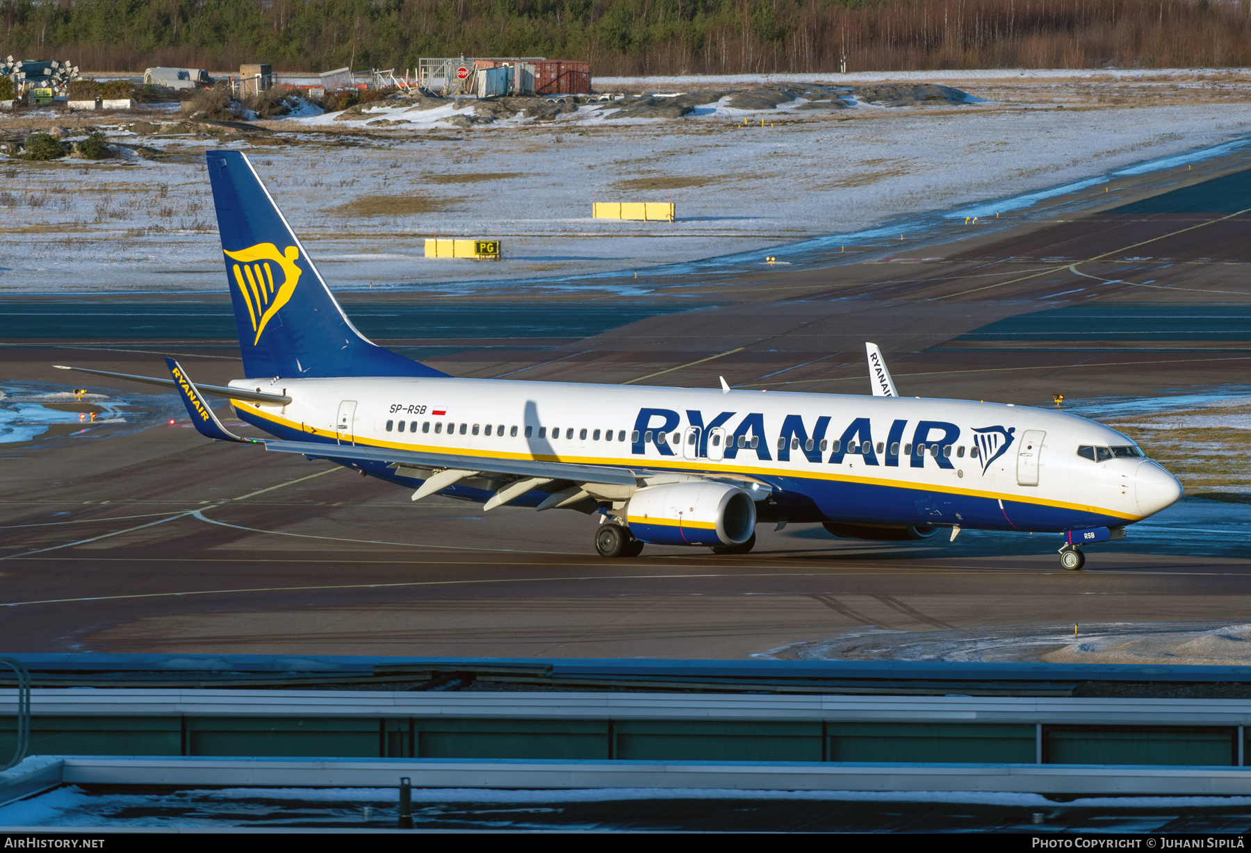
[[[741,545],[756,532],[756,502],[723,483],[669,483],[636,492],[626,523],[654,545]]]

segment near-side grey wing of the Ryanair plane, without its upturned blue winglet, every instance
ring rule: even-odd
[[[550,480],[599,483],[604,485],[637,485],[634,472],[607,465],[575,465],[564,462],[539,462],[530,459],[497,459],[453,453],[418,453],[392,448],[370,448],[359,444],[313,444],[309,442],[265,442],[266,450],[301,453],[309,458],[359,459],[385,462],[414,468],[448,468],[473,470],[483,474],[514,474]]]

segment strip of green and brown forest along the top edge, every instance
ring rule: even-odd
[[[0,0],[21,59],[278,71],[432,56],[583,59],[595,76],[1251,65],[1246,0]]]

